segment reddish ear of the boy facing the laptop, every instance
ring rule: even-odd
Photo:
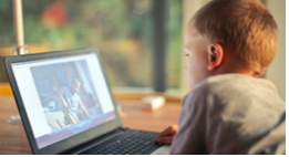
[[[214,43],[208,48],[208,70],[213,71],[221,64],[224,60],[224,49],[220,44]]]

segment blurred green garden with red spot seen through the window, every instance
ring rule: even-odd
[[[178,88],[182,0],[167,0],[168,87]],[[23,0],[29,53],[95,46],[112,86],[151,87],[153,0]],[[12,54],[12,1],[0,1],[0,55]],[[1,71],[1,70],[0,70]],[[3,71],[0,81],[4,81]]]

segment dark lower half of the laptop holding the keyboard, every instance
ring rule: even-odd
[[[149,155],[163,145],[155,144],[158,133],[120,128],[91,146],[83,146],[84,150],[68,154],[82,155]]]

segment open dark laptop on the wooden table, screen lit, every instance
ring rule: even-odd
[[[96,49],[7,56],[33,154],[154,154],[157,133],[122,127]]]

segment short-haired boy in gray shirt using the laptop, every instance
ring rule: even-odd
[[[285,102],[264,78],[277,24],[257,0],[213,0],[188,23],[185,73],[193,90],[178,126],[156,143],[171,154],[285,154]]]

